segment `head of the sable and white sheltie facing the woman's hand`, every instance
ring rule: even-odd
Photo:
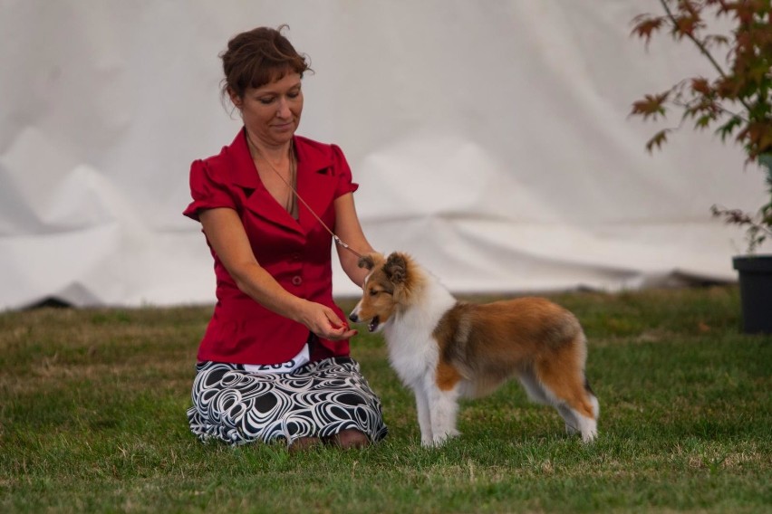
[[[410,256],[401,252],[392,252],[388,257],[380,253],[364,255],[359,267],[370,270],[370,274],[362,286],[362,300],[349,319],[367,323],[368,330],[374,332],[407,305],[421,281],[421,274]]]

